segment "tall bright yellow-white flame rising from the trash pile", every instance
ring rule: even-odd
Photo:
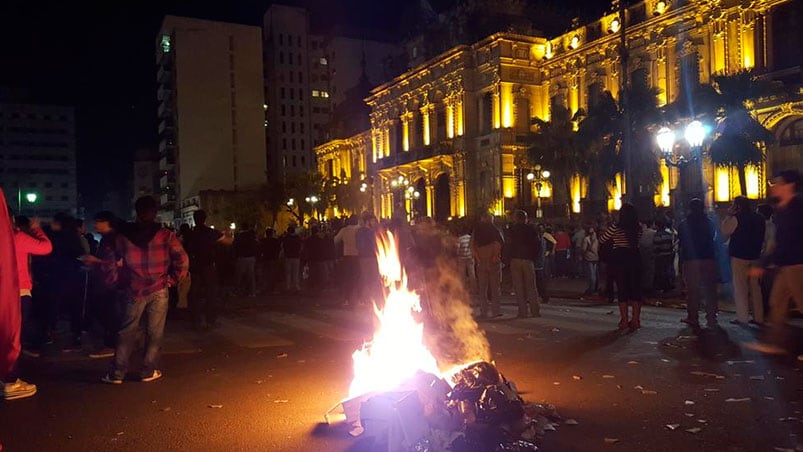
[[[423,371],[439,375],[438,363],[424,345],[421,299],[407,288],[396,239],[390,232],[377,239],[377,263],[386,288],[384,305],[374,303],[373,339],[352,355],[354,379],[349,397],[390,391]]]

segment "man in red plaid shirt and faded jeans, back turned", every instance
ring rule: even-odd
[[[137,199],[136,223],[120,228],[109,274],[127,295],[125,316],[117,339],[117,350],[104,383],[121,384],[128,371],[128,360],[134,351],[145,317],[145,358],[140,371],[141,381],[162,377],[158,368],[159,352],[167,318],[167,289],[187,275],[189,258],[176,234],[156,222],[156,201],[145,196]]]

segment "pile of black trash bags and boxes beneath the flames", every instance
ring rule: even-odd
[[[327,421],[345,415],[353,436],[388,451],[535,451],[562,421],[553,406],[525,402],[487,362],[469,364],[448,380],[420,372],[395,391],[350,399],[343,413],[337,409]]]

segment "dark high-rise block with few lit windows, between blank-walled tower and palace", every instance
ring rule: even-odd
[[[335,107],[365,72],[374,85],[390,75],[395,44],[316,33],[302,8],[272,5],[264,18],[265,130],[269,177],[316,168],[313,147],[330,139]]]

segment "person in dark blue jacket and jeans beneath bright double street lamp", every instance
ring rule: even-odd
[[[680,262],[686,283],[686,312],[681,320],[694,330],[700,328],[700,303],[705,303],[705,319],[709,328],[717,327],[717,263],[714,249],[714,222],[705,214],[703,201],[689,202],[689,216],[680,223]]]

